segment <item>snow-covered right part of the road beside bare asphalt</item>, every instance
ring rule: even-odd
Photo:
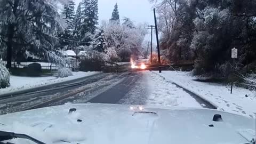
[[[187,92],[150,71],[141,71],[142,77],[135,82],[126,97],[119,103],[126,105],[147,105],[156,107],[202,106]]]

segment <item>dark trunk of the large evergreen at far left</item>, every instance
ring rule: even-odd
[[[8,39],[7,39],[7,68],[12,68],[12,39],[14,33],[14,26],[8,26]]]

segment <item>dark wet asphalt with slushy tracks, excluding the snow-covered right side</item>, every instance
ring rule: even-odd
[[[146,85],[139,86],[141,89],[136,90],[135,95],[130,94],[135,89],[134,87],[138,87],[138,82],[144,81],[144,78],[143,71],[101,73],[77,81],[44,87],[44,89],[35,89],[31,92],[5,95],[5,97],[0,97],[0,114],[63,105],[68,102],[144,105],[148,95]],[[203,103],[206,108],[212,108],[209,103],[197,98],[195,94],[189,94],[198,103]]]

